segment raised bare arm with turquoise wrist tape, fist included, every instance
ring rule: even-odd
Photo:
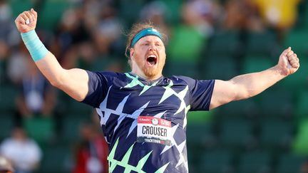
[[[28,48],[31,57],[41,73],[51,85],[56,86],[72,98],[82,101],[88,93],[88,74],[86,70],[73,68],[66,70],[56,60],[39,40],[34,29],[36,28],[37,13],[34,9],[24,11],[16,18],[16,27]]]

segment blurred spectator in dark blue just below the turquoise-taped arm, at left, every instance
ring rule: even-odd
[[[31,58],[26,58],[26,62],[27,73],[22,77],[21,95],[17,98],[19,114],[22,117],[52,115],[56,101],[54,89],[41,75]]]

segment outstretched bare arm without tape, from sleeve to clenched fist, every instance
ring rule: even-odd
[[[279,56],[278,64],[258,73],[239,75],[231,80],[215,80],[210,109],[234,100],[250,98],[261,93],[299,68],[299,58],[287,48]]]

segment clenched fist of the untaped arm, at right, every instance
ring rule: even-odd
[[[282,70],[283,75],[291,75],[299,68],[299,58],[291,48],[287,48],[279,57],[278,67]]]

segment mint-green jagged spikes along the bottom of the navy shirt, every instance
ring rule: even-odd
[[[118,140],[119,140],[119,138],[118,138]],[[116,148],[118,147],[118,140],[116,141],[115,145],[113,146],[113,149],[111,150],[110,154],[108,155],[109,172],[113,172],[113,170],[116,168],[116,166],[119,165],[119,166],[125,168],[124,173],[130,173],[131,171],[145,173],[141,169],[143,168],[145,162],[148,160],[148,157],[150,157],[150,154],[153,151],[150,151],[142,159],[140,159],[137,166],[134,167],[133,165],[128,164],[128,160],[130,158],[130,154],[133,151],[133,146],[135,144],[130,146],[130,148],[125,153],[125,155],[124,155],[124,157],[121,161],[114,159],[114,156],[116,154]],[[168,164],[165,164],[163,167],[160,167],[160,169],[158,169],[155,173],[163,173],[165,171],[165,169],[167,168]]]

